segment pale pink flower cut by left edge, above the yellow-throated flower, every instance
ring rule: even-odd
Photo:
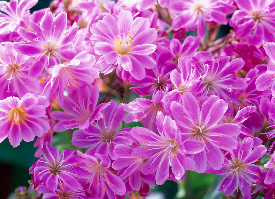
[[[17,53],[12,43],[0,46],[0,99],[8,96],[21,98],[26,93],[40,92],[40,86],[35,79],[28,78],[28,71],[33,58]]]

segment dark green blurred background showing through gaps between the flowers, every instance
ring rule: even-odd
[[[31,12],[49,7],[51,0],[38,1],[31,9]],[[222,26],[218,35],[222,37],[229,33],[230,26]],[[190,33],[192,34],[192,33]],[[135,98],[137,96],[133,96]],[[139,126],[140,124],[128,124],[128,127]],[[70,144],[72,132],[56,133],[53,137],[53,147],[59,149],[74,150]],[[34,140],[35,141],[35,140]],[[8,139],[0,143],[0,199],[9,196],[12,198],[13,191],[18,186],[28,186],[31,179],[29,168],[37,161],[34,157],[36,148],[33,147],[34,141],[21,144],[13,148]],[[225,198],[222,192],[216,191],[223,177],[213,174],[198,174],[186,171],[185,181],[175,183],[166,181],[161,186],[153,186],[153,194],[148,199],[216,199]]]

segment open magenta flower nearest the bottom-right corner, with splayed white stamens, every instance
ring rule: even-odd
[[[255,179],[259,177],[260,173],[260,167],[253,163],[259,161],[259,158],[266,152],[264,145],[257,146],[253,150],[252,147],[252,138],[244,138],[242,144],[238,143],[237,149],[225,154],[221,170],[207,169],[206,173],[226,175],[218,191],[229,196],[238,188],[244,199],[251,198],[251,185],[257,182]]]

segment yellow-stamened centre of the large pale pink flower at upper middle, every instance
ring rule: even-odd
[[[131,44],[134,40],[134,38],[130,35],[130,32],[127,31],[125,34],[124,32],[121,33],[123,37],[120,35],[117,35],[117,41],[116,41],[116,49],[118,54],[123,55],[123,54],[128,54],[129,49],[131,48]]]

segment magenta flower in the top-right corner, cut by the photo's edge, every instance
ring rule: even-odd
[[[238,8],[230,19],[238,36],[245,41],[261,46],[274,42],[275,2],[235,0]]]

